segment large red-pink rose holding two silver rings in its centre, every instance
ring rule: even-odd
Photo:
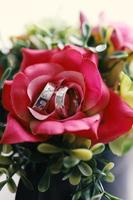
[[[133,123],[133,110],[104,84],[97,55],[75,46],[23,49],[21,70],[4,84],[3,104],[9,115],[1,143],[64,133],[106,143]]]

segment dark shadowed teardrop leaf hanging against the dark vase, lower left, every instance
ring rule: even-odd
[[[46,192],[49,189],[49,186],[50,186],[50,173],[49,170],[47,169],[39,181],[38,190],[39,192]]]

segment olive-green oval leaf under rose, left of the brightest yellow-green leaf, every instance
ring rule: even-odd
[[[55,145],[52,144],[39,144],[37,147],[38,151],[44,154],[53,154],[53,153],[60,153],[62,152],[62,149],[59,147],[56,147]]]

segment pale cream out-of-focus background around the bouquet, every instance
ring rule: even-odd
[[[96,23],[99,13],[104,11],[112,21],[126,22],[133,26],[132,8],[133,0],[0,0],[0,37],[6,40],[11,35],[22,33],[26,24],[36,23],[43,18],[63,20],[74,25],[78,23],[81,10],[91,23]],[[129,192],[125,200],[133,200],[133,152],[129,152],[129,156],[132,167],[125,169],[129,174]],[[14,200],[15,195],[5,187],[0,192],[0,199]]]

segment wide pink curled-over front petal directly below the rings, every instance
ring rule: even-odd
[[[71,119],[65,121],[43,121],[31,122],[33,134],[59,135],[63,133],[74,133],[87,138],[97,139],[97,129],[100,123],[100,115],[94,115],[83,119]]]

